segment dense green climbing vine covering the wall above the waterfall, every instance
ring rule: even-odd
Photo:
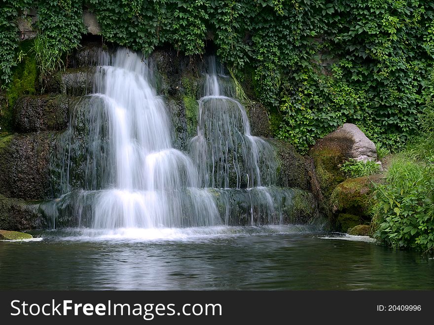
[[[105,40],[141,50],[202,54],[212,39],[240,80],[251,73],[275,136],[306,150],[343,122],[399,147],[417,128],[434,60],[434,4],[418,0],[9,0],[1,10],[1,81],[15,64],[23,7],[64,53],[77,46],[89,6]]]

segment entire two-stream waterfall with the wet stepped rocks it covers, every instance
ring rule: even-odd
[[[94,94],[76,102],[69,129],[57,139],[53,160],[61,163],[53,179],[60,197],[40,205],[51,226],[161,232],[283,223],[296,190],[274,185],[275,150],[252,136],[234,83],[215,57],[203,73],[188,155],[173,147],[150,66],[126,49],[102,54]]]

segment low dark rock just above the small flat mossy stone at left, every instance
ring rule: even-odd
[[[46,228],[36,202],[9,199],[0,194],[0,228],[4,230],[28,230]]]

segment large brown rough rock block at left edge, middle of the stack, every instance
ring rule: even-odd
[[[0,138],[0,193],[19,199],[50,198],[49,154],[53,133]]]

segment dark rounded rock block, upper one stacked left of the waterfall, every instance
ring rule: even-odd
[[[14,107],[15,129],[23,133],[66,129],[70,103],[65,95],[22,96]]]

